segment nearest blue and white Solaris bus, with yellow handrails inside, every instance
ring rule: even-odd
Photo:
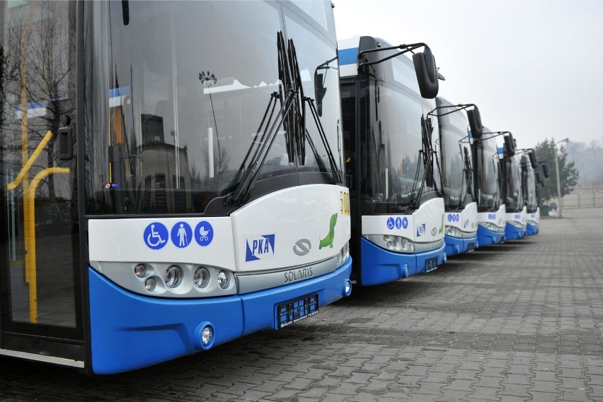
[[[0,1],[0,24],[1,355],[136,370],[350,294],[330,1]]]

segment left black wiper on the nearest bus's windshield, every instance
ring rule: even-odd
[[[236,177],[234,178],[234,183],[240,182],[239,185],[234,189],[232,194],[227,198],[227,202],[234,205],[241,205],[241,203],[246,199],[248,194],[253,190],[253,186],[255,182],[258,180],[259,172],[268,157],[268,152],[270,148],[272,148],[272,144],[275,142],[276,136],[280,127],[285,124],[285,120],[289,117],[289,111],[296,104],[296,98],[298,91],[292,88],[292,79],[289,70],[289,66],[287,65],[287,52],[285,51],[285,39],[282,35],[282,32],[277,33],[277,47],[278,47],[278,64],[279,64],[279,78],[282,83],[285,83],[285,93],[287,93],[284,100],[282,100],[282,105],[280,107],[280,111],[277,114],[277,119],[272,122],[272,126],[268,129],[268,124],[272,120],[272,115],[275,110],[276,100],[280,99],[280,95],[276,93],[272,93],[270,95],[270,102],[268,103],[268,107],[264,112],[264,117],[262,122],[260,123],[260,127],[258,129],[258,133],[261,131],[264,122],[266,126],[264,128],[262,137],[260,138],[260,142],[257,148],[255,148],[255,153],[253,153],[253,158],[251,158],[251,162],[249,165],[245,167],[246,161],[248,160],[249,155],[251,154],[251,148],[247,151],[247,155],[241,163],[241,167],[239,167],[239,172],[237,172]],[[281,89],[282,91],[282,89]],[[272,103],[274,101],[274,103]],[[272,106],[272,108],[271,108]],[[271,110],[272,109],[272,110]],[[270,117],[266,120],[268,115],[268,111],[270,112]],[[293,154],[292,154],[292,141],[291,134],[287,130],[287,153],[289,154],[289,162],[292,162]],[[254,142],[255,143],[255,142]]]

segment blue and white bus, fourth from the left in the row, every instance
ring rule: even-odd
[[[483,136],[473,140],[474,194],[478,204],[477,242],[480,247],[505,242],[503,176],[495,138],[503,134],[507,133],[491,132],[484,128]]]

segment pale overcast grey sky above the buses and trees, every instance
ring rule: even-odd
[[[519,148],[603,142],[603,1],[333,0],[340,39],[425,42],[440,95]]]

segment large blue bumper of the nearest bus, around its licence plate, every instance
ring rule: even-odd
[[[345,295],[352,259],[332,273],[246,295],[163,299],[129,292],[88,268],[92,371],[115,374],[209,349],[277,328],[277,305],[318,293],[319,306]],[[213,339],[202,345],[209,326]]]

